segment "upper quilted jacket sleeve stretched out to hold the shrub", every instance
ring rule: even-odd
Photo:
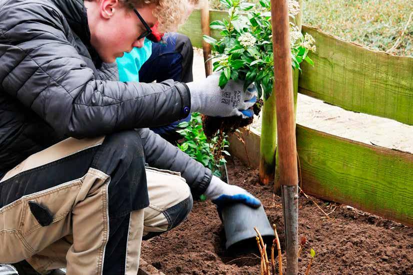
[[[165,125],[189,114],[186,85],[97,80],[55,8],[18,2],[0,7],[0,92],[17,98],[57,133],[104,135]]]

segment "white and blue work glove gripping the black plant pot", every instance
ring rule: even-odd
[[[229,185],[216,176],[212,176],[208,188],[203,193],[206,198],[219,208],[231,203],[241,202],[253,208],[258,208],[261,202],[253,195],[236,185]]]

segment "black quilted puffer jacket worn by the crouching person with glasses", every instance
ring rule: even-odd
[[[67,137],[156,127],[187,116],[186,85],[107,81],[81,0],[0,0],[0,178]],[[104,70],[103,70],[104,69]],[[193,194],[211,173],[147,129],[149,165],[182,172]]]

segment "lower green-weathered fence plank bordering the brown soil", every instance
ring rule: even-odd
[[[259,149],[256,132],[242,130],[247,152]],[[296,129],[302,189],[307,194],[413,226],[413,155],[372,146],[300,125]],[[248,164],[244,145],[229,139],[231,155]],[[257,168],[257,154],[248,155]],[[229,179],[230,180],[230,179]]]

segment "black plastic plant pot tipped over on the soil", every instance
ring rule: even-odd
[[[274,239],[274,230],[269,224],[262,205],[251,208],[242,203],[226,206],[221,210],[221,218],[225,230],[225,247],[232,253],[256,252],[256,227],[267,249],[270,249]]]

